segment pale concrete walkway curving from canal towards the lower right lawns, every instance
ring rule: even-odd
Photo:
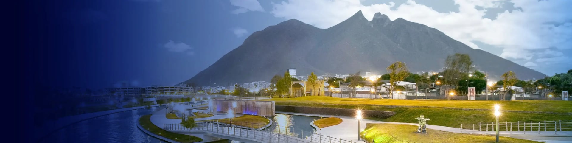
[[[337,117],[337,118],[340,118],[342,120],[341,124],[317,129],[316,133],[321,134],[323,136],[331,136],[331,137],[335,137],[335,138],[341,138],[342,140],[358,141],[358,120],[356,118],[345,117],[345,116],[329,116],[329,115],[320,115],[320,114],[292,113],[292,112],[276,112],[276,113],[277,114],[293,114],[293,115],[300,115],[300,116]],[[362,119],[362,121],[360,123],[360,128],[362,130],[365,129],[366,124],[368,124],[368,123],[403,124],[403,125],[415,125],[415,126],[419,125],[419,124],[407,123],[407,122],[382,122],[382,121]],[[452,128],[452,127],[448,127],[448,126],[438,126],[438,125],[427,125],[427,128],[428,129],[434,129],[434,130],[442,130],[442,131],[451,132],[451,133],[472,134],[469,132],[473,131],[473,130],[468,130],[468,129]],[[478,132],[478,133],[476,133],[476,132]],[[490,132],[490,133],[494,134],[494,132]],[[501,132],[501,134],[502,133],[503,132]],[[554,132],[551,132],[551,133],[554,135]],[[475,131],[474,134],[489,134],[489,133],[488,132]],[[509,133],[506,133],[506,134],[509,134]],[[512,135],[518,136],[518,133],[513,132]],[[570,135],[570,136],[572,136],[572,135]],[[545,142],[559,142],[559,141],[549,141],[549,140],[543,140],[543,141],[545,141]]]

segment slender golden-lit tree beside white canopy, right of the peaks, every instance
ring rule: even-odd
[[[390,74],[390,96],[393,98],[394,87],[398,81],[403,81],[408,76],[409,70],[405,63],[397,61],[387,67],[387,73]]]

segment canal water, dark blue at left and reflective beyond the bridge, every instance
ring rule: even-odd
[[[81,121],[58,130],[40,142],[165,142],[148,136],[136,126],[139,117],[151,114],[156,109],[129,110]],[[310,122],[319,118],[276,114],[275,117],[271,117],[273,125],[268,130],[277,133],[277,126],[280,125],[282,134],[288,132],[289,135],[297,137],[301,137],[302,134],[308,136],[309,132],[314,130],[309,125]],[[304,130],[304,133],[301,132],[302,130]]]

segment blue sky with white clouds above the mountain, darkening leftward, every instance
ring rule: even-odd
[[[44,84],[105,88],[188,80],[248,35],[287,19],[327,28],[362,10],[443,31],[549,76],[572,69],[571,1],[59,1],[35,21]]]

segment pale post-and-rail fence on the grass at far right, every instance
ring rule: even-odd
[[[461,125],[462,132],[495,132],[495,122],[486,122],[479,124]],[[547,134],[558,132],[572,133],[572,121],[517,121],[517,122],[499,122],[499,132],[507,134]]]

